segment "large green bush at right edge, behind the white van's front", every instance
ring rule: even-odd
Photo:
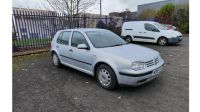
[[[175,25],[182,33],[189,33],[189,5],[166,4],[158,10],[156,20]]]

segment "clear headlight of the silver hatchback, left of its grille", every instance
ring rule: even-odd
[[[133,70],[138,71],[138,70],[142,70],[146,68],[146,64],[144,62],[141,61],[137,61],[137,62],[133,62],[131,64],[131,67]]]

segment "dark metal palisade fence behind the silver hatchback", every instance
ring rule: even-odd
[[[70,17],[54,11],[13,10],[13,52],[49,48],[51,39],[58,30],[68,28],[120,29],[121,17],[89,15]],[[118,30],[119,32],[119,30]],[[116,32],[117,33],[117,32]]]

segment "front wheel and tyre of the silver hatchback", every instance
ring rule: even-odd
[[[97,68],[96,78],[99,85],[105,89],[113,90],[117,87],[115,72],[106,64],[102,64]]]

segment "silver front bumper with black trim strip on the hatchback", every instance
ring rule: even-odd
[[[120,85],[138,86],[153,80],[162,71],[164,61],[159,65],[146,70],[146,72],[134,74],[130,72],[119,72],[118,83]]]

